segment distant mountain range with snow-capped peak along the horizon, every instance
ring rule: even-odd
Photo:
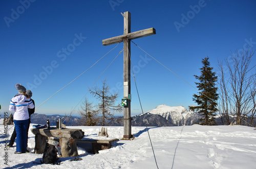
[[[190,126],[200,122],[203,116],[194,111],[187,110],[183,106],[170,107],[159,105],[155,109],[144,114],[132,116],[132,126]],[[51,126],[56,126],[56,121],[61,118],[67,126],[79,126],[79,117],[69,117],[63,115],[45,115],[34,113],[31,115],[31,123],[46,125],[47,119]],[[234,120],[234,117],[231,117]],[[223,125],[221,118],[215,118],[217,125]],[[100,125],[100,124],[99,124]],[[123,116],[106,120],[105,126],[123,126]]]

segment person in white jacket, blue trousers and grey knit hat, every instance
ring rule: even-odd
[[[34,104],[26,94],[26,88],[17,83],[15,88],[18,93],[12,98],[9,106],[14,111],[13,120],[16,129],[16,151],[14,154],[26,153],[27,150],[27,126],[29,122],[28,108],[33,109]]]

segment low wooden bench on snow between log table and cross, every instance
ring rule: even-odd
[[[98,139],[90,139],[84,138],[82,140],[76,140],[77,142],[91,142],[92,143],[92,151],[94,154],[99,153],[99,150],[110,149],[112,146],[112,142],[119,141],[118,138],[108,139],[108,140],[98,140]]]

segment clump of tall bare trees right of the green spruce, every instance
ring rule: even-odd
[[[219,110],[223,115],[223,123],[231,123],[230,114],[237,125],[253,125],[255,119],[255,66],[250,66],[254,51],[247,48],[243,52],[232,53],[225,59],[226,66],[219,61]],[[227,74],[226,74],[227,73]]]

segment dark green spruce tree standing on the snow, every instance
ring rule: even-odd
[[[215,72],[212,72],[213,67],[210,67],[210,62],[208,57],[202,59],[203,67],[200,68],[201,76],[195,76],[199,81],[196,83],[199,90],[199,94],[193,95],[193,101],[197,103],[198,106],[189,106],[190,110],[196,111],[203,115],[203,118],[200,119],[200,125],[212,126],[215,125],[214,116],[216,115],[217,109],[217,100],[218,100],[218,88],[216,82],[218,77],[215,75]]]

